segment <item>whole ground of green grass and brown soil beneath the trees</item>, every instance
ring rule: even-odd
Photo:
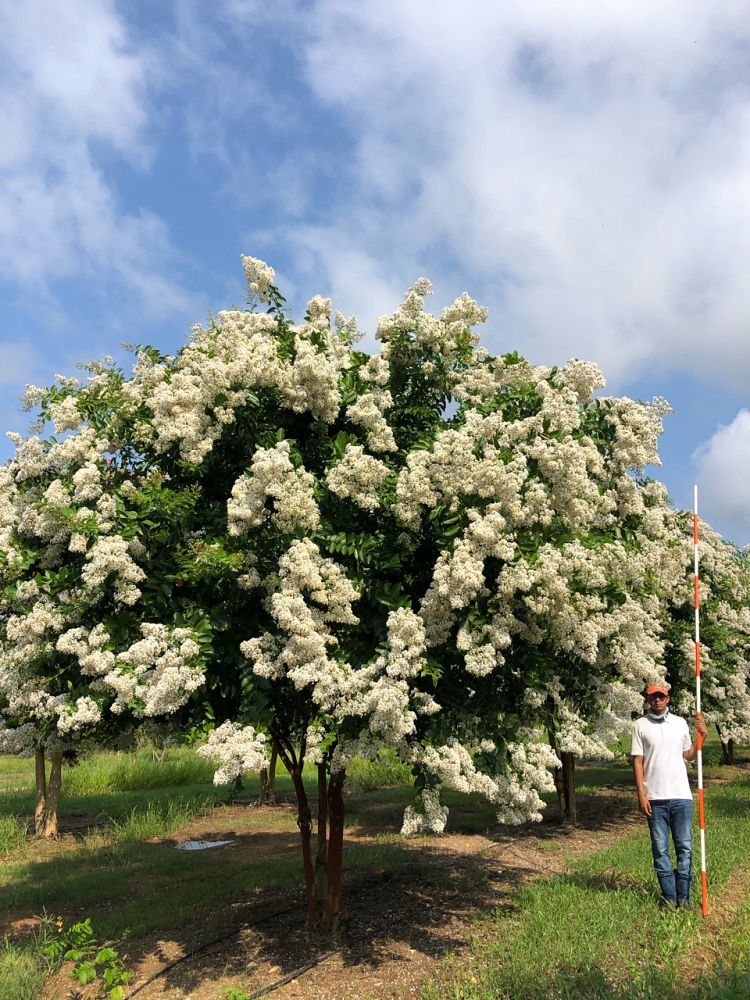
[[[229,801],[212,770],[186,748],[91,756],[65,769],[60,837],[40,842],[26,834],[32,762],[0,758],[0,1000],[103,995],[43,953],[86,918],[134,974],[123,995],[141,1000],[750,995],[743,763],[707,767],[704,920],[660,910],[623,763],[579,769],[575,829],[553,804],[541,824],[501,827],[480,799],[447,792],[448,832],[403,838],[404,769],[355,762],[333,941],[304,931],[286,773],[276,804],[257,806],[257,783]],[[185,849],[206,841],[225,843]]]

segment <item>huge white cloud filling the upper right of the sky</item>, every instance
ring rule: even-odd
[[[318,0],[286,37],[353,138],[334,214],[376,282],[470,282],[502,346],[538,360],[737,384],[749,15],[746,0]],[[333,280],[340,253],[318,249]]]

